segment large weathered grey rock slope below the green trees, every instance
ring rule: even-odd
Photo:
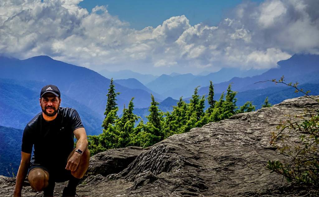
[[[283,158],[270,145],[271,132],[276,131],[276,125],[287,118],[295,118],[285,115],[302,114],[305,109],[319,109],[319,103],[306,97],[288,99],[271,108],[237,114],[188,133],[173,135],[141,151],[119,173],[105,173],[108,170],[103,169],[103,165],[95,170],[91,166],[92,174],[78,186],[77,193],[80,196],[304,195],[302,191],[282,187],[282,177],[266,170],[265,163]],[[112,156],[100,158],[103,157],[112,160]],[[93,161],[95,159],[91,163]],[[96,169],[100,169],[100,173]],[[7,184],[1,191],[9,191],[11,187]],[[62,193],[60,187],[56,186],[56,195]],[[40,195],[29,190],[26,186],[23,193]],[[7,192],[1,194],[10,196]]]

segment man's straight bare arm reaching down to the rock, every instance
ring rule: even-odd
[[[31,154],[21,151],[21,162],[20,162],[20,167],[17,174],[16,186],[14,188],[13,196],[21,196],[23,181],[26,178],[26,173],[30,166],[30,159],[31,159]]]

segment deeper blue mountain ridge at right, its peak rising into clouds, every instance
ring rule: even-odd
[[[319,83],[319,55],[293,55],[287,60],[282,60],[278,62],[278,68],[272,68],[267,72],[264,72],[261,75],[253,77],[239,78],[234,77],[229,81],[214,84],[215,93],[221,93],[226,91],[228,85],[232,84],[232,89],[234,91],[246,91],[252,89],[263,89],[267,87],[276,86],[273,82],[263,82],[256,83],[258,81],[279,80],[283,75],[285,76],[285,81],[296,82],[300,84],[303,83]],[[277,86],[281,86],[278,84]],[[284,85],[282,85],[284,86]],[[204,95],[208,93],[208,86],[200,88],[198,91],[199,94]]]

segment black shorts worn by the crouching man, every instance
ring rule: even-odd
[[[35,160],[31,160],[29,172],[34,168],[41,168],[49,173],[49,181],[61,183],[71,178],[71,170],[66,170],[63,167],[57,168],[56,166],[43,165],[37,163]]]

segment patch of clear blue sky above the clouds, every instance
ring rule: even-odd
[[[262,0],[253,2],[259,4]],[[129,22],[131,28],[141,30],[147,26],[157,27],[164,20],[181,15],[189,19],[190,25],[218,25],[229,10],[241,3],[241,0],[84,0],[79,6],[91,12],[96,5],[107,5],[111,15]]]

